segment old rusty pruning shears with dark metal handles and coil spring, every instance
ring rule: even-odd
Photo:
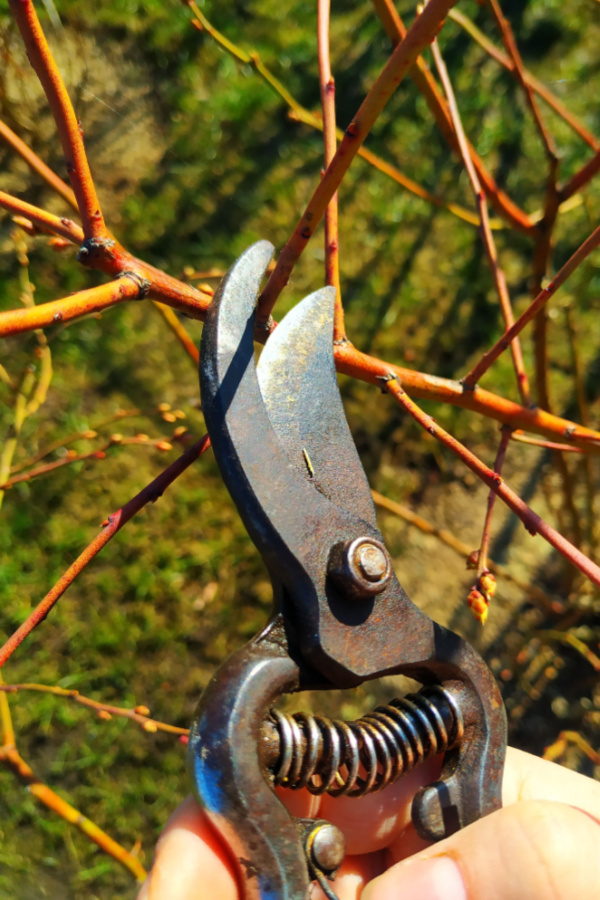
[[[204,692],[188,761],[246,900],[305,900],[314,880],[335,897],[343,837],[291,816],[276,785],[360,796],[443,753],[439,780],[412,806],[418,833],[440,840],[500,807],[506,717],[481,657],[421,612],[393,571],[337,386],[335,289],[288,313],[255,364],[255,305],[272,253],[254,244],[223,279],[204,325],[200,385],[274,607]],[[283,694],[392,674],[423,688],[356,722],[273,709]]]

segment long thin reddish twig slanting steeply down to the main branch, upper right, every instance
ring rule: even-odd
[[[508,286],[506,284],[506,276],[504,275],[504,270],[500,266],[500,262],[498,260],[498,252],[496,250],[496,243],[494,241],[494,235],[492,234],[492,229],[490,227],[490,217],[488,215],[488,208],[487,208],[485,192],[481,188],[481,182],[479,181],[479,177],[477,175],[475,166],[473,165],[473,161],[472,161],[471,155],[469,153],[469,147],[467,144],[467,139],[465,137],[462,120],[460,118],[460,113],[458,111],[456,97],[454,95],[454,90],[452,88],[452,83],[451,83],[450,77],[448,75],[448,70],[446,68],[446,64],[444,63],[444,60],[442,59],[442,54],[440,52],[440,48],[439,48],[437,40],[433,41],[433,43],[431,45],[431,49],[433,52],[433,58],[435,60],[438,74],[440,76],[440,81],[442,82],[442,87],[444,88],[444,93],[446,94],[448,110],[450,112],[450,117],[452,119],[454,131],[456,132],[456,139],[458,141],[460,155],[462,157],[465,169],[467,171],[469,181],[471,182],[471,187],[473,189],[473,193],[475,194],[475,202],[477,204],[477,209],[479,211],[479,217],[480,217],[480,221],[481,221],[481,225],[480,225],[481,239],[483,241],[483,246],[484,246],[484,249],[486,252],[486,256],[488,258],[488,262],[490,264],[490,269],[492,271],[492,277],[494,279],[494,284],[496,286],[496,292],[498,294],[498,299],[500,301],[500,309],[502,311],[502,317],[504,319],[504,330],[508,331],[508,329],[511,327],[511,325],[514,324],[515,317],[514,317],[513,311],[512,311],[510,295],[508,293]],[[527,375],[525,373],[525,366],[523,364],[523,353],[521,351],[521,344],[520,344],[518,338],[511,342],[510,352],[512,355],[513,366],[514,366],[515,375],[517,378],[517,386],[519,389],[519,393],[521,395],[521,402],[523,403],[524,406],[529,406],[531,404],[529,381],[528,381]]]

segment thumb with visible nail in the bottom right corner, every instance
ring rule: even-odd
[[[362,900],[569,900],[596,896],[600,822],[563,803],[501,809],[398,863]]]

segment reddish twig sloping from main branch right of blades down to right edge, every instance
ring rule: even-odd
[[[385,381],[385,389],[398,401],[406,412],[425,429],[429,434],[440,441],[445,447],[451,450],[466,466],[477,475],[488,487],[498,494],[509,509],[521,519],[527,531],[532,534],[541,535],[548,543],[558,550],[565,559],[576,566],[590,581],[600,587],[600,567],[591,559],[581,552],[577,547],[571,544],[566,538],[558,533],[551,525],[544,522],[515,492],[502,481],[502,478],[481,462],[474,453],[471,453],[464,444],[457,441],[456,438],[448,434],[440,425],[438,425],[431,416],[423,412],[417,404],[410,399],[406,391],[400,385],[399,380],[395,376],[388,376]]]

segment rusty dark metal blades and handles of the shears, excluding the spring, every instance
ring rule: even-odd
[[[377,548],[383,539],[335,380],[333,291],[311,295],[284,319],[257,375],[254,306],[271,253],[267,242],[255,244],[225,276],[204,326],[200,381],[215,456],[269,570],[276,618],[215,676],[189,764],[201,802],[239,860],[245,896],[300,900],[309,882],[305,855],[259,749],[278,695],[393,673],[443,684],[464,735],[446,752],[440,781],[413,804],[417,830],[431,840],[500,806],[506,722],[483,660],[422,613],[393,571],[377,593],[349,589],[361,575],[352,566],[335,577],[340,547],[361,539]]]

